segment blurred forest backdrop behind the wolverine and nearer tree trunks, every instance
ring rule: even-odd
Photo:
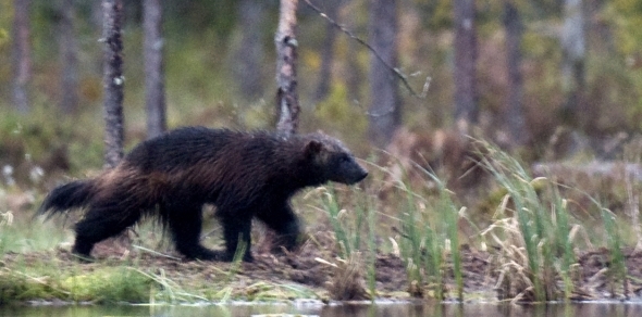
[[[332,0],[316,5],[368,41],[384,22],[369,22],[370,2],[376,1]],[[369,85],[371,52],[301,2],[297,33],[304,131],[332,131],[366,154],[371,145],[386,148],[400,126],[432,138],[437,130],[457,129],[455,123],[464,118],[474,126],[464,132],[510,149],[526,148],[526,160],[534,162],[568,158],[578,148],[590,150],[589,155],[615,158],[618,152],[608,148],[613,140],[640,130],[642,2],[396,2],[390,43],[398,59],[391,66],[418,92],[429,78],[425,98],[390,78],[398,86],[393,106],[399,119],[383,141],[373,140],[368,127],[381,102],[373,94],[378,89]],[[29,7],[24,53],[29,62],[28,72],[20,75],[23,78],[16,74],[18,41],[12,38],[17,37],[11,36],[16,29],[12,26],[16,3]],[[5,0],[1,5],[0,94],[5,98],[0,101],[0,162],[20,166],[29,154],[29,160],[46,167],[69,165],[51,168],[100,166],[99,1]],[[162,5],[169,126],[271,128],[277,1],[163,1]],[[469,22],[472,37],[459,49],[469,56],[456,54],[456,18],[461,18],[455,14],[457,5],[474,8]],[[124,10],[125,136],[131,147],[146,138],[141,2],[127,1]],[[462,81],[456,77],[458,65],[470,63],[461,59],[473,61],[462,71],[472,78],[466,79],[471,83],[469,91],[457,90]],[[25,102],[16,98],[20,80],[26,83]],[[86,128],[73,128],[81,126]],[[23,129],[21,136],[16,127]],[[371,142],[363,142],[369,135]],[[48,158],[54,154],[69,162]]]

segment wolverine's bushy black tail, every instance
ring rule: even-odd
[[[48,216],[85,206],[94,195],[91,180],[76,180],[53,189],[46,198],[38,215]]]

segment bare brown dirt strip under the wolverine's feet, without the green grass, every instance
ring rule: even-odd
[[[61,271],[89,274],[104,266],[135,266],[151,274],[163,272],[184,289],[199,289],[208,284],[221,286],[222,281],[243,297],[244,292],[257,283],[296,284],[308,289],[322,300],[363,300],[367,287],[367,258],[338,261],[333,254],[330,232],[317,234],[316,243],[308,241],[292,254],[274,255],[258,245],[254,263],[208,263],[183,261],[134,249],[97,245],[95,263],[78,264],[65,249],[28,254],[5,254],[2,266],[16,267],[29,263],[55,263]],[[501,264],[490,252],[464,246],[461,250],[465,301],[497,301],[496,289]],[[642,291],[642,253],[625,250],[626,282],[617,280],[609,270],[609,252],[594,250],[578,256],[578,274],[572,299],[575,300],[639,300]],[[374,259],[376,297],[407,300],[412,296],[430,297],[437,286],[418,286],[408,281],[404,262],[393,254],[378,254]],[[234,271],[233,278],[229,274]],[[446,300],[454,300],[455,281],[448,263],[444,270],[443,290]],[[559,278],[557,283],[561,284]],[[559,287],[561,289],[561,287]],[[314,295],[313,295],[314,296]],[[287,299],[287,297],[286,297]],[[510,299],[504,299],[509,301]]]

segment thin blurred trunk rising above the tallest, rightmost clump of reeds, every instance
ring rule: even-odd
[[[527,139],[522,110],[523,80],[520,69],[523,25],[513,0],[504,1],[504,29],[506,30],[506,68],[508,69],[506,123],[511,145],[521,145]]]

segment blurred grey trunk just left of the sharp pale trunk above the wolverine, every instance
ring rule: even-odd
[[[261,41],[261,26],[266,16],[263,1],[240,0],[239,24],[243,33],[240,49],[237,52],[238,67],[237,83],[240,92],[247,100],[260,98],[263,93],[262,63],[263,43]]]

